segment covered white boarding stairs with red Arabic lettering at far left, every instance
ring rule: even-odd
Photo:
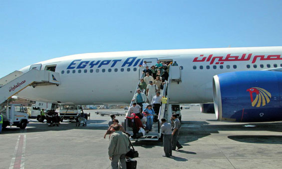
[[[27,86],[59,85],[59,73],[49,70],[30,69],[23,73],[14,71],[0,78],[0,103],[9,99]]]

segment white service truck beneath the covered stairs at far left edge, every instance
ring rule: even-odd
[[[0,112],[3,116],[2,128],[8,125],[15,125],[24,129],[28,123],[28,114],[26,113],[26,107],[21,104],[0,104]]]

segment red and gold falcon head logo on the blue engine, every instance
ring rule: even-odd
[[[252,87],[247,89],[247,91],[250,92],[251,102],[253,107],[265,106],[267,103],[270,102],[271,93],[264,88]],[[254,93],[256,94],[255,99],[253,98]]]

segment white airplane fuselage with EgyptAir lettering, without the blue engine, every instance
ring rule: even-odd
[[[17,96],[73,104],[129,103],[142,71],[142,60],[157,58],[183,66],[182,81],[170,85],[170,102],[207,103],[213,102],[214,75],[281,67],[281,54],[280,46],[75,54],[36,63],[42,64],[40,69],[55,65],[60,85],[29,86]],[[26,72],[30,66],[20,71]]]

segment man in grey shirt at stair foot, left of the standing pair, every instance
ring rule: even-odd
[[[163,134],[163,143],[164,143],[164,151],[166,157],[172,156],[172,131],[171,124],[166,121],[165,118],[162,118],[162,134]]]

